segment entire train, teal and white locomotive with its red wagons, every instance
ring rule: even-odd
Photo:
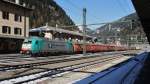
[[[86,51],[93,53],[123,50],[127,50],[127,48],[96,43],[86,44]],[[43,56],[56,53],[81,53],[82,51],[82,43],[73,43],[71,40],[49,40],[43,37],[29,37],[24,40],[21,48],[22,54],[31,54],[32,56]]]

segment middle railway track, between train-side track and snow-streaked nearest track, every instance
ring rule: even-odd
[[[102,54],[102,56],[107,56],[107,55],[115,55],[115,54],[125,54],[126,52],[119,52],[119,53],[107,53],[107,54]],[[79,57],[71,57],[71,56],[55,56],[55,57],[38,57],[33,60],[26,60],[25,62],[22,63],[22,61],[17,61],[18,63],[11,63],[10,60],[8,59],[9,63],[0,63],[0,71],[7,71],[7,70],[16,70],[16,69],[21,69],[21,68],[31,68],[35,66],[42,66],[42,65],[48,65],[48,64],[55,64],[55,63],[62,63],[62,62],[68,62],[68,61],[76,61],[76,60],[82,60],[82,59],[89,59],[89,58],[95,58],[97,56],[101,56],[99,54],[95,54],[94,56],[79,56]],[[57,59],[58,58],[58,59]],[[19,58],[14,58],[12,60],[20,60]],[[6,61],[6,60],[4,60]]]

